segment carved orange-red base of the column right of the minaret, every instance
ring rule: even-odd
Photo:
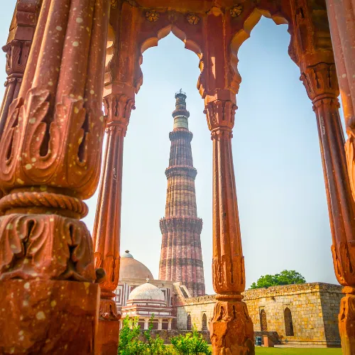
[[[218,297],[217,297],[218,299]],[[221,300],[209,324],[212,352],[216,355],[254,355],[253,322],[245,302]]]

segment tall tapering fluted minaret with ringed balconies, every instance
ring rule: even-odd
[[[171,141],[165,217],[160,219],[163,234],[159,279],[181,281],[193,297],[204,295],[204,273],[200,234],[202,219],[197,218],[195,178],[186,95],[175,94],[174,129]]]

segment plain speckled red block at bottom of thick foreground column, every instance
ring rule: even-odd
[[[99,285],[0,282],[0,354],[94,354]]]

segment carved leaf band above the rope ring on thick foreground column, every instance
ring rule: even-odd
[[[48,90],[31,89],[24,103],[19,98],[11,104],[0,141],[2,187],[50,184],[85,191],[88,197],[94,192],[93,177],[98,175],[101,160],[99,150],[94,148],[104,133],[102,111],[99,107],[96,112],[86,110],[84,99],[67,96],[49,119],[48,97]],[[68,117],[70,135],[65,125]]]

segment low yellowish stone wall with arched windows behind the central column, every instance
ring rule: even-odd
[[[254,332],[261,332],[260,313],[264,310],[267,331],[277,332],[282,344],[317,346],[340,345],[337,317],[341,298],[342,287],[327,283],[274,286],[244,293]],[[214,295],[186,298],[183,305],[176,307],[177,328],[186,329],[190,314],[192,324],[202,330],[202,316],[205,313],[207,322],[211,320],[215,302]],[[292,316],[293,335],[290,329],[286,333],[287,308]]]

